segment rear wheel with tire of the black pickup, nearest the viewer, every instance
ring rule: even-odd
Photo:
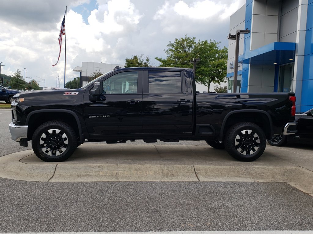
[[[250,122],[241,122],[230,127],[224,142],[228,154],[244,162],[259,158],[266,147],[264,131]]]

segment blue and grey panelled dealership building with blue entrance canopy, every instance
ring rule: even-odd
[[[247,0],[230,17],[229,33],[244,29],[237,92],[295,92],[297,111],[313,108],[313,0]],[[228,92],[235,44],[228,41]]]

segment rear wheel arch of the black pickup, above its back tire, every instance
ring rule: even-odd
[[[243,114],[245,114],[243,116]],[[239,122],[252,122],[259,125],[265,133],[267,139],[270,139],[273,133],[273,123],[269,113],[264,110],[233,110],[227,113],[221,125],[219,140],[222,141],[227,129],[233,124]]]

